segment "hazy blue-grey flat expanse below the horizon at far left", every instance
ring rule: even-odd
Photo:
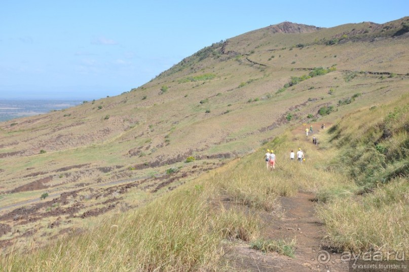
[[[0,122],[48,113],[77,106],[79,100],[8,100],[0,99]]]

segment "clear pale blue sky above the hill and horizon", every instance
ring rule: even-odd
[[[212,43],[268,25],[408,15],[407,0],[1,0],[0,99],[114,96]]]

